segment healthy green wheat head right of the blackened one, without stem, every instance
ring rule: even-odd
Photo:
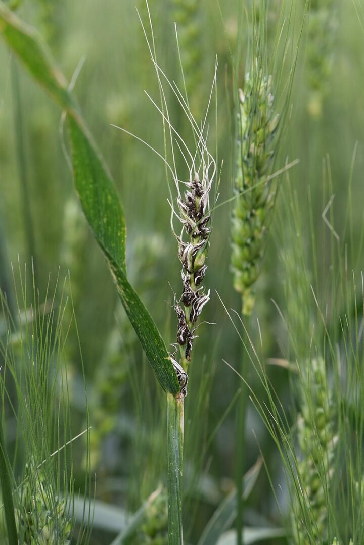
[[[267,178],[278,126],[272,77],[265,75],[258,59],[246,75],[239,100],[231,269],[234,288],[242,295],[242,313],[249,316],[254,306],[252,286],[259,275],[275,198],[275,189]]]

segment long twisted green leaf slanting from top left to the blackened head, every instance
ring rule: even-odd
[[[38,33],[24,25],[1,0],[0,32],[35,79],[68,113],[75,186],[89,227],[104,252],[117,292],[160,385],[164,390],[176,394],[180,386],[165,343],[146,307],[127,280],[126,226],[114,181],[82,121],[67,82],[55,68],[51,54]]]

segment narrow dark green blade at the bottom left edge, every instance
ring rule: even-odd
[[[10,463],[5,450],[5,441],[2,424],[0,423],[0,485],[2,492],[5,522],[8,531],[9,545],[17,545],[17,533],[14,514],[13,487],[10,479]]]

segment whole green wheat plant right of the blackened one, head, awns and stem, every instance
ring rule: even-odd
[[[258,13],[257,13],[258,9]],[[284,13],[284,7],[281,8]],[[291,7],[293,9],[293,6]],[[283,86],[284,102],[281,116],[277,113],[276,90],[282,83],[282,66],[268,56],[267,8],[264,2],[253,2],[250,47],[246,59],[247,71],[243,89],[235,93],[236,148],[234,171],[234,201],[231,217],[231,271],[233,285],[242,298],[242,315],[249,318],[254,308],[254,284],[259,276],[262,258],[276,201],[277,180],[273,174],[277,165],[278,144],[282,140],[283,124],[287,114],[293,84],[296,57],[293,58],[288,81]],[[279,51],[284,28],[279,20],[275,53]],[[299,41],[297,43],[298,51]],[[284,54],[284,53],[283,53]],[[296,52],[297,55],[297,52]],[[248,363],[243,358],[241,375],[248,373]],[[245,423],[247,391],[243,389],[237,415],[236,488],[238,510],[236,519],[237,543],[242,543],[243,462],[246,458]]]

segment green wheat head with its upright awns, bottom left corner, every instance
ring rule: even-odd
[[[54,293],[49,286],[41,302],[33,280],[34,303],[28,307],[25,274],[13,278],[15,315],[0,294],[1,541],[69,545],[73,536],[77,543],[88,543],[87,502],[85,520],[77,525],[73,510],[72,445],[89,430],[71,435],[75,422],[70,421],[64,359],[69,323],[63,321],[71,301],[61,298],[57,306],[57,286]]]

